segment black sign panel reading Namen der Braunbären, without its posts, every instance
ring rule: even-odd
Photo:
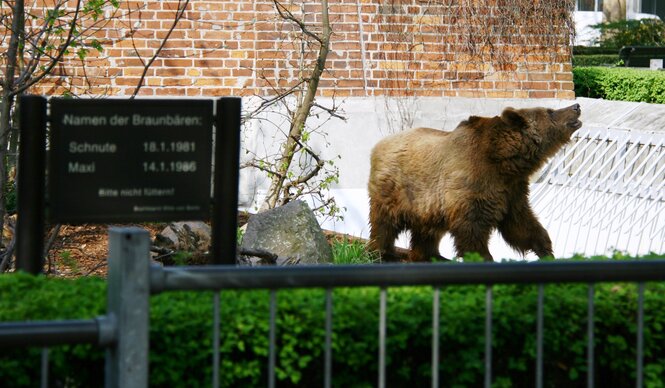
[[[209,218],[212,120],[210,100],[52,99],[51,218]]]

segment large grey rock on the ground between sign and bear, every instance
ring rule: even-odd
[[[240,251],[270,252],[278,257],[276,264],[328,264],[333,260],[319,223],[302,201],[250,217]]]

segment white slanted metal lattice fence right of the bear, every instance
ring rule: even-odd
[[[558,256],[665,249],[663,132],[582,129],[531,190]]]

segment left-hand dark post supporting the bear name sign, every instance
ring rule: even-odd
[[[44,268],[46,99],[19,97],[16,268],[31,274]],[[4,161],[2,161],[4,163]]]

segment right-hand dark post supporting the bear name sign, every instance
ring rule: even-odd
[[[241,99],[217,101],[211,256],[214,264],[235,264],[238,228]]]

